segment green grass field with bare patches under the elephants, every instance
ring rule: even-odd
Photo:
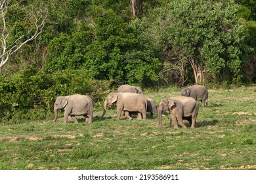
[[[160,103],[179,91],[144,94]],[[117,121],[114,107],[101,114],[91,125],[0,124],[0,169],[256,169],[256,87],[209,90],[196,129],[170,127],[169,115],[160,129],[157,116]]]

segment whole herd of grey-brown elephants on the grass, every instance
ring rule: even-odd
[[[104,101],[104,110],[102,118],[106,114],[108,107],[116,104],[117,120],[120,120],[121,113],[129,120],[132,120],[132,115],[136,115],[139,120],[146,119],[146,112],[150,112],[152,117],[158,113],[159,127],[162,127],[161,116],[164,111],[170,113],[170,125],[173,122],[174,127],[186,128],[183,120],[188,120],[190,127],[196,127],[196,117],[198,115],[198,103],[202,102],[202,107],[207,105],[208,90],[202,85],[194,85],[181,90],[181,95],[177,97],[163,97],[160,104],[143,95],[140,87],[124,84],[119,86],[117,92],[108,93]],[[68,121],[68,116],[71,116],[75,123],[75,116],[84,116],[86,122],[93,122],[93,100],[87,95],[68,95],[65,97],[56,97],[54,103],[54,123],[58,117],[58,110],[64,109],[64,124]]]

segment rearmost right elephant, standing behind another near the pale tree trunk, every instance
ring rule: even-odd
[[[183,88],[181,90],[181,95],[186,97],[192,97],[196,101],[201,101],[202,107],[205,107],[205,101],[206,101],[206,106],[207,106],[208,90],[202,85],[196,84],[188,88]]]

